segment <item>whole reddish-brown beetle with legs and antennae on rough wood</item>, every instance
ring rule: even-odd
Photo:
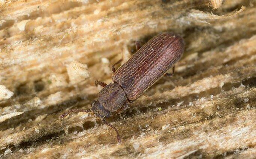
[[[63,113],[60,118],[71,112],[92,112],[96,118],[116,131],[116,138],[121,143],[118,130],[105,118],[110,117],[112,112],[121,113],[129,103],[138,99],[164,75],[172,77],[173,74],[166,72],[173,66],[174,73],[174,64],[184,52],[184,41],[179,35],[166,32],[156,35],[142,47],[136,41],[135,47],[137,52],[124,65],[115,70],[114,66],[121,62],[119,60],[112,66],[113,83],[95,81],[103,89],[98,93],[98,100],[92,102],[91,109],[72,109]]]

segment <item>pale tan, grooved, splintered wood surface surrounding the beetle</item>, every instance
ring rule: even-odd
[[[1,0],[0,158],[255,158],[255,0]],[[185,39],[163,77],[107,121],[88,109],[134,41]]]

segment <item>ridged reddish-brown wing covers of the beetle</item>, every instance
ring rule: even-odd
[[[158,81],[182,56],[182,37],[171,33],[155,36],[141,47],[113,75],[129,100],[137,99]]]

